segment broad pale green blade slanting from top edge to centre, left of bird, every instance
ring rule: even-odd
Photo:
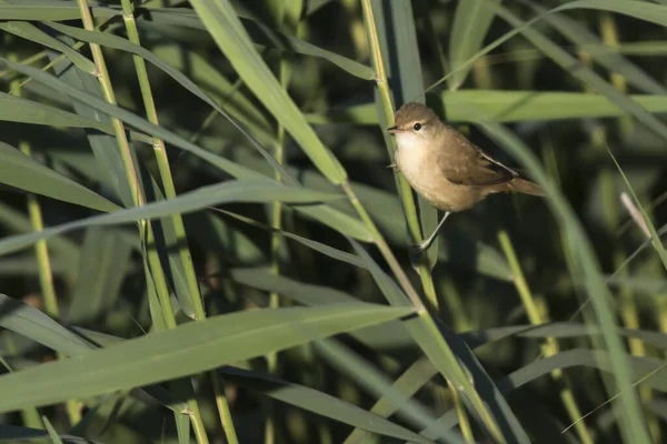
[[[336,184],[342,183],[347,179],[345,169],[308,125],[295,102],[259,57],[229,1],[192,0],[190,3],[257,99],[286,128],[327,179]]]

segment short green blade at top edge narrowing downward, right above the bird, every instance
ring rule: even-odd
[[[449,34],[449,62],[451,70],[456,71],[449,78],[450,90],[457,90],[468,77],[472,67],[459,68],[479,51],[496,17],[494,10],[487,6],[488,1],[498,0],[466,0],[456,6]]]

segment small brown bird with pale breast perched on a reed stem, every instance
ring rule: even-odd
[[[544,195],[536,183],[491,159],[421,103],[404,104],[394,121],[387,132],[396,137],[396,165],[417,193],[445,211],[434,233],[419,244],[419,252],[430,246],[449,214],[468,210],[489,194]]]

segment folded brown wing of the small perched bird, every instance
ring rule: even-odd
[[[462,134],[456,134],[454,155],[442,153],[438,157],[438,167],[451,183],[468,186],[490,186],[506,183],[518,173],[472,144]]]

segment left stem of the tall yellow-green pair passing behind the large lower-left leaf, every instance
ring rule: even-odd
[[[92,16],[90,14],[90,8],[88,6],[87,0],[77,0],[77,4],[81,13],[81,21],[83,22],[83,28],[88,31],[94,30]],[[98,79],[102,88],[102,94],[104,97],[104,100],[108,103],[116,104],[116,94],[113,92],[113,87],[111,85],[111,80],[109,78],[109,71],[107,69],[102,49],[99,44],[90,43],[90,50],[93,57],[96,68],[98,70]],[[141,206],[146,203],[146,200],[141,191],[137,167],[135,165],[135,161],[132,159],[132,153],[126,134],[125,125],[117,118],[111,118],[111,124],[113,128],[116,141],[118,143],[120,157],[125,165],[126,179],[130,186],[132,201],[136,206]],[[143,220],[140,221],[139,233],[142,238],[143,245],[155,245],[155,233],[151,223]],[[150,251],[146,252],[146,254],[148,256],[148,269],[150,270],[150,276],[147,278],[152,279],[156,285],[157,294],[160,300],[159,302],[162,311],[163,323],[167,329],[173,329],[177,325],[176,315],[173,313],[173,307],[171,306],[171,301],[169,299],[169,291],[167,287],[166,276],[161,266],[160,258],[158,256],[158,252],[155,249],[150,249]],[[179,386],[181,386],[181,384],[182,383],[180,382],[178,383]],[[185,389],[185,386],[182,386],[182,389],[188,392],[188,407],[190,410],[190,420],[192,422],[192,428],[195,431],[197,442],[199,444],[208,444],[208,436],[206,435],[203,421],[199,411],[199,404],[197,403],[197,400],[193,395],[193,387]]]

